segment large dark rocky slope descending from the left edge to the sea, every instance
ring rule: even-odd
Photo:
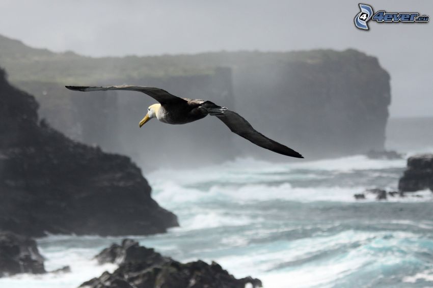
[[[0,70],[0,229],[28,236],[145,235],[178,225],[128,157],[38,123],[37,107]]]

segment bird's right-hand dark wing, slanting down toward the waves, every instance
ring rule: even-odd
[[[265,135],[255,130],[247,120],[243,119],[238,113],[225,110],[223,113],[215,115],[230,128],[233,133],[253,142],[262,148],[274,151],[290,157],[304,158],[293,149],[284,146],[277,141],[269,139]]]

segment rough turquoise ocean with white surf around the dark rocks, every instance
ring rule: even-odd
[[[429,123],[391,120],[387,148],[405,157],[433,152]],[[266,288],[433,287],[433,193],[382,201],[353,196],[367,188],[396,190],[405,165],[405,159],[355,155],[287,163],[246,158],[152,171],[146,174],[152,195],[178,215],[180,227],[130,238],[181,262],[217,261]],[[70,265],[72,272],[2,278],[0,287],[77,287],[116,268],[98,266],[92,257],[123,238],[38,239],[47,270]]]

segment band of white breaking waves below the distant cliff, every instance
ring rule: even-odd
[[[318,179],[327,181],[320,175],[319,170],[332,171],[332,175],[340,172],[369,170],[368,177],[395,177],[390,172],[383,172],[386,168],[403,168],[404,159],[376,160],[358,155],[338,159],[327,159],[296,163],[269,163],[251,158],[237,159],[221,165],[205,167],[196,170],[174,171],[158,170],[148,176],[154,187],[154,197],[164,207],[176,209],[180,204],[200,203],[200,201],[248,201],[290,200],[290,201],[356,201],[354,194],[365,191],[366,186],[335,186],[329,187],[292,187],[291,182],[309,179],[320,183]],[[302,173],[300,173],[302,169]],[[311,172],[308,172],[310,170]],[[275,175],[274,175],[275,174]],[[170,180],[167,181],[167,175]],[[329,176],[331,177],[331,176]],[[195,184],[195,185],[193,185]],[[369,183],[369,185],[374,185]],[[396,189],[396,183],[389,190]],[[375,200],[375,195],[367,194],[366,200]],[[410,193],[407,197],[388,197],[388,201],[425,201],[431,200],[428,191]],[[362,203],[362,201],[359,201]]]

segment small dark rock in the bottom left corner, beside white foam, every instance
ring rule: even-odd
[[[0,277],[18,273],[45,273],[43,257],[35,240],[0,232]]]

